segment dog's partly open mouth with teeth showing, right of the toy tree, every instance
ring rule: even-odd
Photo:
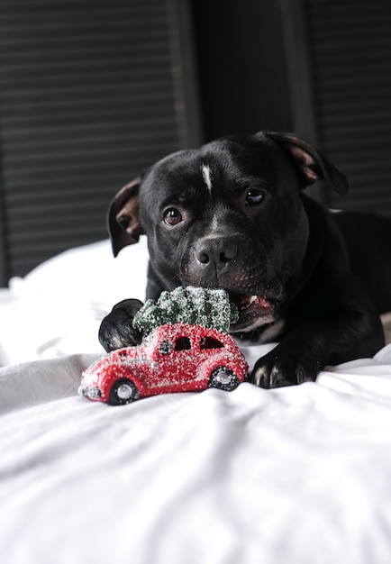
[[[266,296],[243,296],[230,292],[230,300],[239,310],[239,319],[231,332],[248,332],[277,320],[277,300]]]

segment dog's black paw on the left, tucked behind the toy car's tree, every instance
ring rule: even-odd
[[[141,343],[142,333],[132,325],[141,306],[140,300],[123,300],[106,315],[99,328],[99,342],[106,352]]]

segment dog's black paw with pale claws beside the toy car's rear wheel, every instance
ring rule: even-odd
[[[279,345],[256,362],[250,379],[259,387],[294,386],[314,382],[320,368],[321,360],[314,350],[289,350]]]

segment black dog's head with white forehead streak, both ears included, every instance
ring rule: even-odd
[[[307,248],[299,192],[319,178],[346,193],[345,177],[290,133],[233,136],[178,151],[115,196],[114,254],[144,233],[156,287],[223,287],[241,311],[233,330],[271,323]]]

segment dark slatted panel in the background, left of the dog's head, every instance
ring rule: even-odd
[[[0,0],[6,277],[105,238],[114,193],[188,142],[175,4]]]

